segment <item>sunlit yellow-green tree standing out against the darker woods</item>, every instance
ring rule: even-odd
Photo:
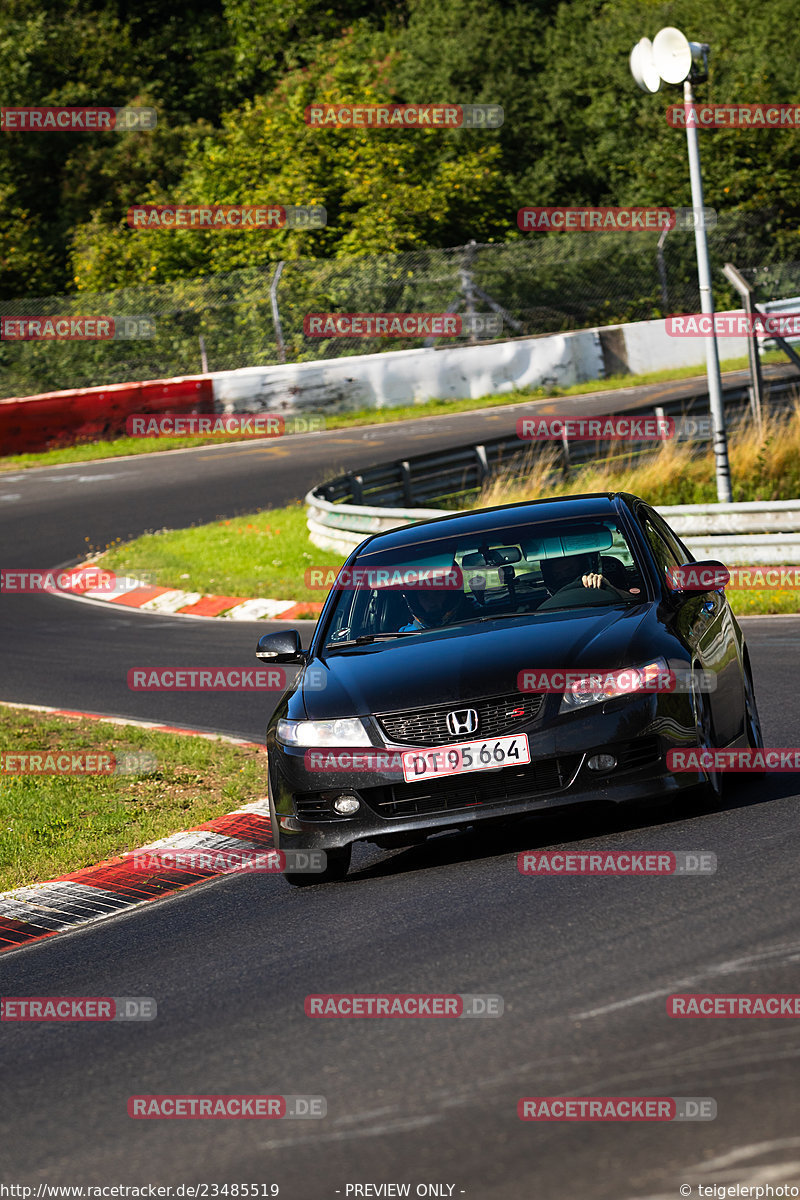
[[[150,203],[324,205],[319,230],[140,229],[95,220],[76,239],[76,275],[97,288],[335,257],[501,239],[512,228],[492,133],[317,128],[313,103],[389,102],[387,43],[365,22],[266,97],[225,115],[198,139],[172,196]],[[473,140],[469,140],[469,139]],[[145,199],[145,198],[143,198]]]

